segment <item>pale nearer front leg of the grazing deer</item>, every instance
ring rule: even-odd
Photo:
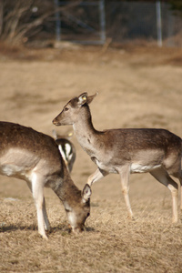
[[[38,222],[38,233],[45,239],[48,239],[45,235],[45,227],[44,227],[44,194],[43,194],[43,182],[42,179],[37,177],[36,174],[33,175],[32,180],[32,194],[35,200],[36,214],[37,214],[37,222]],[[46,224],[45,224],[46,225]]]

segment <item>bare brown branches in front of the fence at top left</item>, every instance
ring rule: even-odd
[[[0,40],[18,45],[47,28],[49,31],[46,34],[53,34],[55,13],[66,13],[67,9],[78,5],[80,1],[67,3],[57,7],[54,0],[0,0]]]

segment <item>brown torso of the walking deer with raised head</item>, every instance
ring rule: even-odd
[[[87,136],[87,145],[79,137],[78,140],[97,167],[108,173],[119,173],[124,165],[129,167],[131,174],[145,173],[158,167],[169,167],[170,173],[170,166],[174,167],[176,157],[180,157],[177,147],[181,146],[181,139],[167,130],[113,129],[95,135],[95,140]],[[174,168],[171,174],[173,172]]]

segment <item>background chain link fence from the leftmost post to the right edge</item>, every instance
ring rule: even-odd
[[[66,5],[58,0],[55,3]],[[146,41],[181,46],[182,18],[160,1],[83,1],[65,15],[56,13],[57,40],[104,44],[107,37],[116,43]]]

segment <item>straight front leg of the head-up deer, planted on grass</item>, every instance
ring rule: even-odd
[[[128,216],[130,218],[133,218],[133,212],[131,210],[131,205],[129,201],[129,167],[123,167],[121,170],[119,170],[120,178],[121,178],[121,187],[122,187],[122,192],[125,198],[126,202],[126,208],[128,212]]]

